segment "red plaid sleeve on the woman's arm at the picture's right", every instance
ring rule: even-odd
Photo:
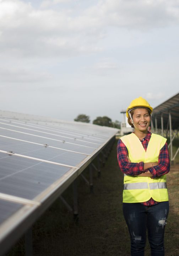
[[[158,165],[153,166],[147,170],[149,170],[151,172],[151,174],[153,175],[153,177],[151,177],[151,178],[160,177],[169,172],[170,156],[169,156],[169,152],[168,152],[167,143],[160,150],[160,153],[158,156]]]

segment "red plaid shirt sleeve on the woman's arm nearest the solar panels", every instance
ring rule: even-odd
[[[136,176],[147,170],[143,170],[143,162],[134,163],[129,162],[129,153],[128,149],[126,148],[125,144],[122,142],[121,139],[118,141],[117,146],[117,157],[120,170],[126,175]]]

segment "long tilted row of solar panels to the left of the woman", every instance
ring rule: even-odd
[[[0,255],[111,143],[116,132],[0,111]]]

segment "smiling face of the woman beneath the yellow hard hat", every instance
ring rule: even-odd
[[[136,108],[132,116],[135,127],[140,131],[145,131],[150,125],[150,114],[146,108]]]

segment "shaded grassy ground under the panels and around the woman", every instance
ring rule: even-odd
[[[130,239],[122,214],[123,174],[116,159],[116,144],[117,141],[101,170],[101,178],[94,172],[94,193],[89,193],[89,187],[78,178],[78,224],[60,200],[34,224],[34,256],[130,255]],[[88,178],[88,170],[84,175]],[[170,212],[165,235],[166,256],[179,256],[179,164],[173,165],[167,176]],[[63,196],[72,205],[71,186]],[[7,255],[25,255],[24,238]],[[150,255],[148,243],[145,255]]]

